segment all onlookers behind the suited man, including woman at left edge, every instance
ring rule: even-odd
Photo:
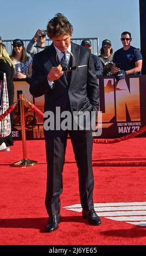
[[[21,39],[12,42],[12,52],[9,54],[0,36],[0,77],[3,78],[5,72],[7,76],[7,87],[9,95],[9,105],[14,99],[14,84],[12,78],[26,79],[32,76],[32,63],[36,53],[39,53],[46,46],[46,33],[43,29],[38,29],[30,40],[27,48]],[[123,47],[113,53],[111,40],[105,39],[101,44],[100,55],[92,54],[96,76],[115,75],[116,79],[125,78],[125,75],[140,75],[142,70],[142,54],[139,48],[131,46],[131,33],[123,32],[120,38]],[[92,50],[90,39],[82,40],[81,46]],[[27,53],[30,55],[28,56]],[[12,114],[11,114],[12,123]],[[4,142],[6,140],[6,142]],[[8,138],[0,138],[0,151],[8,151],[12,145],[11,135]]]

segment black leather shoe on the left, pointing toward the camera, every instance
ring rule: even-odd
[[[60,223],[60,222],[61,222],[60,214],[50,216],[48,218],[48,223],[46,225],[46,232],[53,232],[56,229],[58,229],[58,223]]]

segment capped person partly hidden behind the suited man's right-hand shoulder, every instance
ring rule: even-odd
[[[81,41],[81,46],[84,46],[84,47],[92,50],[91,40],[89,40],[89,39],[82,40]],[[96,70],[97,77],[98,76],[103,76],[103,65],[101,63],[100,58],[96,54],[93,54],[93,53],[92,53],[92,57],[93,57],[94,68]]]

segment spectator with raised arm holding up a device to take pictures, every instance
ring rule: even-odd
[[[27,46],[27,53],[29,53],[32,58],[34,57],[35,53],[41,52],[45,49],[46,34],[46,30],[38,29],[31,41],[29,42]],[[37,42],[36,45],[35,42]]]

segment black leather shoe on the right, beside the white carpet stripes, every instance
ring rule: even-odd
[[[87,218],[88,222],[92,225],[100,225],[101,220],[96,214],[96,211],[94,209],[90,211],[82,210],[82,218]]]

